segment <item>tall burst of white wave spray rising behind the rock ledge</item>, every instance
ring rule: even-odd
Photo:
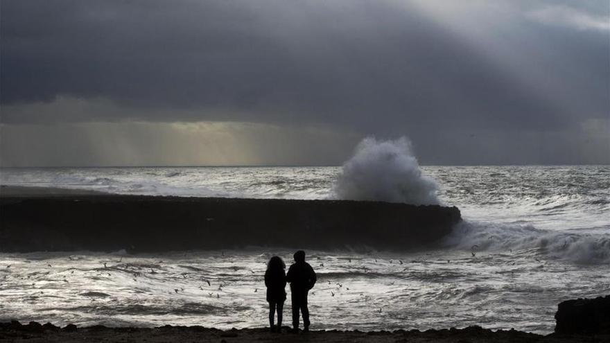
[[[438,204],[437,184],[421,174],[406,137],[394,141],[363,139],[343,165],[334,194],[342,200]]]

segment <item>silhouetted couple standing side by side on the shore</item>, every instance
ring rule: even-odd
[[[265,285],[267,286],[267,301],[269,302],[269,325],[271,331],[281,331],[282,312],[286,300],[286,283],[290,283],[290,298],[293,301],[293,332],[299,331],[299,310],[303,315],[303,330],[309,331],[309,309],[307,308],[307,293],[315,285],[316,277],[313,268],[305,262],[305,252],[299,250],[294,255],[295,263],[290,265],[288,274],[284,272],[286,265],[279,256],[273,256],[267,264]],[[277,309],[277,329],[274,327],[275,311]]]

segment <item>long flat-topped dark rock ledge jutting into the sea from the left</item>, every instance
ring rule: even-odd
[[[413,249],[461,220],[456,207],[134,195],[3,196],[0,213],[1,252]]]

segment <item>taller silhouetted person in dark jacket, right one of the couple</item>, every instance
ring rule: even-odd
[[[303,315],[304,331],[309,331],[309,310],[307,293],[315,285],[316,277],[313,268],[305,262],[305,252],[295,252],[295,263],[290,265],[286,281],[290,282],[290,297],[293,301],[293,330],[299,329],[299,310]]]

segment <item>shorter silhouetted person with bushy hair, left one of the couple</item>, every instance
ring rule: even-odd
[[[267,263],[265,286],[267,286],[267,301],[269,302],[269,330],[281,331],[281,317],[286,301],[286,265],[279,256],[273,256]],[[277,309],[277,330],[273,326],[273,317]]]

